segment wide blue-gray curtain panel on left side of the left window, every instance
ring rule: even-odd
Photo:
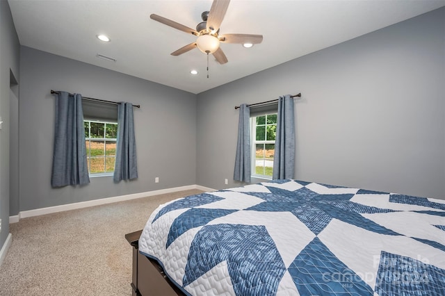
[[[51,186],[90,183],[86,161],[82,96],[68,92],[56,95],[54,154]]]

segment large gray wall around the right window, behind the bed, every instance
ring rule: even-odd
[[[441,8],[202,92],[197,183],[238,185],[234,106],[302,92],[296,179],[445,199],[444,72]]]

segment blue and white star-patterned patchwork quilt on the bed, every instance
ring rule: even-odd
[[[445,295],[445,200],[270,181],[160,206],[139,250],[190,295]]]

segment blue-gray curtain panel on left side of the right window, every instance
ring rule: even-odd
[[[250,108],[246,104],[239,106],[234,180],[250,182]]]

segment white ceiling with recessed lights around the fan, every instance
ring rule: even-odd
[[[2,1],[2,0],[0,0]],[[445,6],[445,0],[232,0],[220,35],[262,34],[250,49],[221,44],[220,65],[198,49],[170,53],[195,36],[149,18],[195,28],[211,0],[8,0],[20,44],[142,79],[200,93],[288,60]],[[111,42],[96,38],[106,34]],[[103,54],[116,62],[97,58]],[[199,74],[192,76],[191,69]]]

